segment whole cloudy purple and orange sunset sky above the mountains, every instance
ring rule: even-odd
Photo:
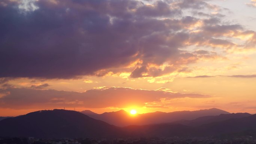
[[[256,113],[256,0],[1,0],[0,116]]]

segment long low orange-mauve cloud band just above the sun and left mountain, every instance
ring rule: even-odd
[[[0,98],[1,108],[31,109],[31,108],[125,108],[131,105],[145,106],[146,102],[161,102],[161,99],[174,98],[210,98],[202,94],[181,94],[166,88],[158,90],[143,90],[132,88],[97,88],[86,92],[68,92],[57,90],[39,90],[29,88],[0,89],[4,94]]]

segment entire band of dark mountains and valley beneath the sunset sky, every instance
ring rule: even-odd
[[[149,140],[144,144],[152,144],[152,139],[176,143],[177,140],[207,142],[209,139],[215,144],[220,140],[223,140],[221,144],[226,144],[227,139],[256,142],[253,140],[256,136],[256,115],[249,113],[231,114],[214,108],[180,113],[133,114],[86,115],[74,110],[55,109],[1,118],[0,143],[12,144],[19,138],[22,141],[17,144],[47,144],[51,140],[56,143],[61,139],[68,139],[61,142],[65,144],[73,144],[74,139],[80,142],[76,144],[97,139],[100,140],[98,144],[138,144],[137,138]]]

